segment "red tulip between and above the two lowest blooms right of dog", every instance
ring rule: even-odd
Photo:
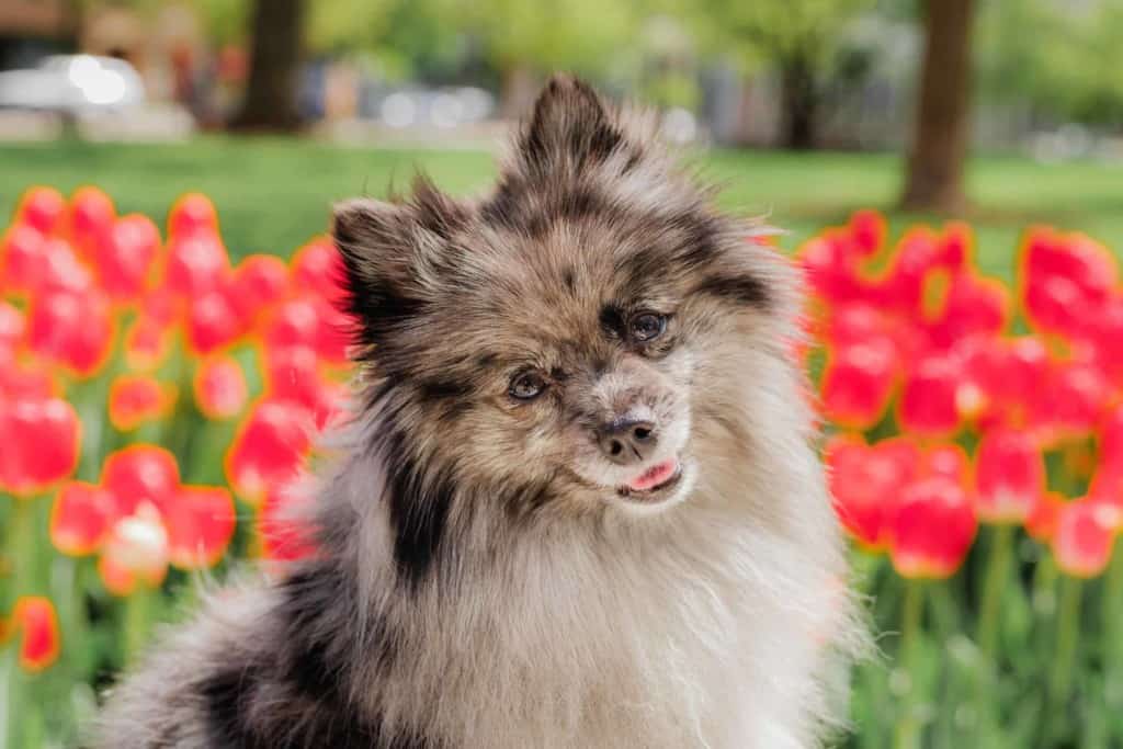
[[[1025,522],[1046,491],[1044,458],[1025,432],[995,430],[983,436],[975,456],[979,518]]]

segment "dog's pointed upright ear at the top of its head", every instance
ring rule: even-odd
[[[538,94],[518,140],[518,158],[531,176],[578,174],[624,146],[615,117],[595,91],[569,75],[555,75]]]

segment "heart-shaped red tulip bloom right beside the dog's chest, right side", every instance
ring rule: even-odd
[[[834,511],[860,544],[883,548],[897,497],[921,471],[921,451],[904,438],[868,447],[856,436],[839,436],[827,446],[824,462]]]

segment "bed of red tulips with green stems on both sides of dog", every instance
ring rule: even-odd
[[[834,505],[894,633],[850,741],[1110,746],[1123,287],[1077,234],[1030,229],[1013,289],[973,255],[965,225],[891,245],[865,211],[796,254]],[[0,239],[9,746],[72,741],[193,575],[309,551],[286,487],[340,414],[338,274],[322,237],[234,265],[199,194],[162,235],[94,188],[26,193]]]

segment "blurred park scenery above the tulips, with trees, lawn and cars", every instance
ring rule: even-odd
[[[6,0],[0,209],[29,182],[98,181],[149,213],[203,189],[229,214],[235,254],[279,250],[322,228],[329,200],[383,191],[414,165],[454,190],[485,184],[496,136],[564,70],[658,107],[668,138],[728,180],[731,205],[796,239],[871,205],[971,210],[1006,248],[1030,220],[1119,237],[1123,6],[933,10]],[[257,220],[266,204],[285,210]]]

